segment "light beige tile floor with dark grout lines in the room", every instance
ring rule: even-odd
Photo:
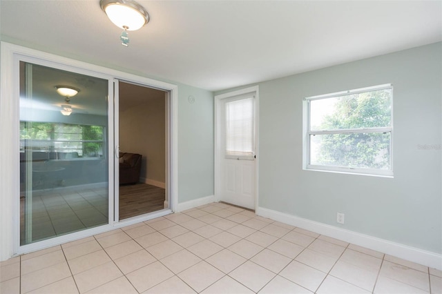
[[[442,293],[442,271],[213,203],[1,262],[0,293]]]

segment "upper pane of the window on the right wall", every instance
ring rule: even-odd
[[[391,126],[392,89],[310,101],[310,130]]]

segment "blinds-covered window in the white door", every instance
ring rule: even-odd
[[[253,159],[254,103],[253,96],[226,103],[226,158]]]

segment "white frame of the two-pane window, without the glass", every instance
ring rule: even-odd
[[[379,177],[393,177],[393,95],[391,97],[391,126],[382,128],[355,128],[343,130],[311,130],[310,126],[310,101],[318,99],[328,99],[340,97],[343,95],[358,94],[362,92],[371,92],[375,90],[391,89],[392,84],[383,84],[366,88],[358,88],[354,90],[345,90],[325,95],[317,95],[306,97],[302,101],[302,169],[316,170],[332,173],[348,173],[356,175],[373,175]],[[390,133],[390,169],[381,170],[377,168],[351,168],[348,166],[323,166],[310,164],[310,136],[311,135],[327,135],[327,134],[348,134],[348,133]]]

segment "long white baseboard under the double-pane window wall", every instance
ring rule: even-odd
[[[269,219],[273,219],[278,222],[290,224],[291,226],[304,228],[305,230],[309,230],[321,235],[326,235],[358,246],[363,246],[374,251],[407,259],[410,260],[410,262],[416,262],[417,264],[423,264],[425,266],[430,266],[431,268],[442,270],[442,255],[438,253],[356,233],[343,228],[337,228],[336,226],[314,222],[309,219],[296,217],[287,213],[280,213],[279,211],[267,208],[258,207],[256,209],[256,214],[262,217],[268,217]]]

